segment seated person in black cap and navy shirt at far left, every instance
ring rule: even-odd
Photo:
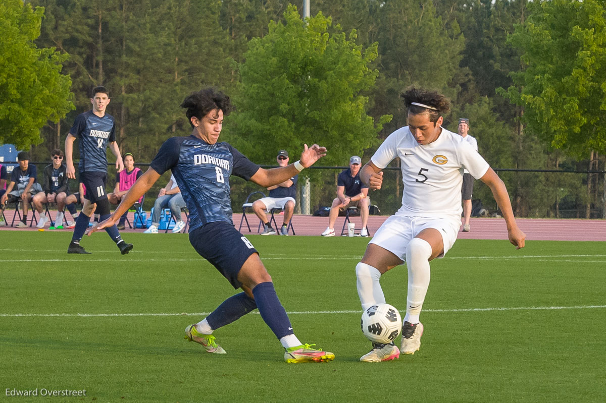
[[[2,198],[0,198],[0,204],[4,206],[9,197],[11,201],[21,198],[23,216],[21,221],[16,224],[16,227],[27,228],[27,211],[30,208],[30,201],[32,201],[33,195],[42,192],[42,187],[36,182],[36,166],[30,165],[29,152],[19,152],[17,154],[17,161],[19,162],[19,168],[13,169],[8,188],[5,194],[2,195]],[[15,185],[17,185],[16,189]]]

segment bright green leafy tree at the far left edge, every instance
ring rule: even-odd
[[[38,48],[44,8],[21,0],[0,2],[0,142],[29,148],[42,142],[47,120],[73,109],[71,80],[61,74],[67,55]]]

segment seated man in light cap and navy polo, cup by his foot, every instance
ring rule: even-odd
[[[362,229],[360,235],[368,237],[366,224],[368,223],[368,186],[360,180],[360,164],[362,159],[353,156],[349,159],[349,168],[339,174],[337,179],[337,197],[333,200],[328,215],[328,227],[322,232],[322,237],[335,236],[335,221],[339,216],[339,210],[345,210],[348,207],[355,206],[360,210],[362,218]]]

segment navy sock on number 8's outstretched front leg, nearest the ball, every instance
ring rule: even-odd
[[[284,336],[294,334],[290,319],[288,319],[286,310],[278,300],[273,283],[268,281],[267,283],[257,284],[253,289],[253,295],[255,295],[255,303],[259,308],[261,318],[267,323],[267,326],[278,340]]]

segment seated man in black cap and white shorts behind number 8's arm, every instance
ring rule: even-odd
[[[288,152],[284,149],[280,150],[277,159],[279,166],[287,166]],[[296,187],[294,185],[297,183],[298,176],[295,175],[278,185],[270,186],[267,188],[269,197],[260,198],[253,203],[253,211],[263,222],[264,229],[261,235],[276,234],[276,231],[271,228],[266,215],[271,209],[282,209],[284,211],[284,221],[282,221],[280,235],[288,235],[288,224],[290,224],[290,219],[293,217],[293,212],[295,212]]]

